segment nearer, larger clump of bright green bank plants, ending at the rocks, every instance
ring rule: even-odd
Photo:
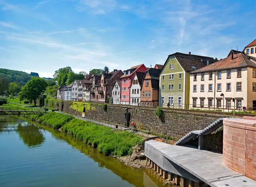
[[[87,145],[97,147],[105,155],[130,155],[132,147],[143,143],[143,139],[127,131],[116,131],[105,126],[80,119],[72,119],[61,127],[68,134],[85,141]]]

